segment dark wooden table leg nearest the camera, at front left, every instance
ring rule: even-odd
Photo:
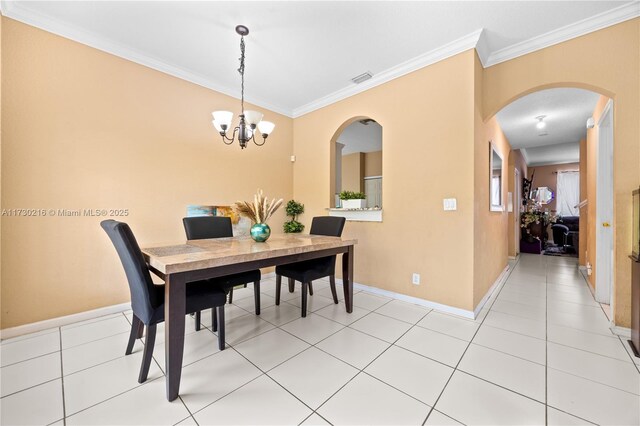
[[[184,352],[185,316],[184,277],[167,275],[164,287],[164,351],[167,375],[167,399],[173,401],[180,391]]]

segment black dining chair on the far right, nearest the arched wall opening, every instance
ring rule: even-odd
[[[311,235],[325,235],[341,237],[346,219],[344,217],[319,216],[311,222]],[[293,292],[295,281],[302,283],[302,316],[307,316],[307,293],[313,295],[312,282],[320,278],[329,277],[333,303],[338,303],[336,293],[336,256],[310,259],[302,262],[276,266],[276,305],[280,304],[280,289],[282,277],[289,279],[289,291]]]

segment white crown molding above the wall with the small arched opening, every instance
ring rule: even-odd
[[[346,99],[350,96],[362,93],[373,87],[379,86],[398,77],[409,74],[410,72],[419,70],[420,68],[424,68],[428,65],[440,62],[443,59],[450,58],[451,56],[457,55],[458,53],[462,53],[469,49],[474,49],[478,44],[478,40],[480,39],[482,32],[483,29],[476,30],[464,37],[452,41],[451,43],[445,44],[442,47],[431,50],[430,52],[417,56],[413,59],[409,59],[408,61],[402,62],[399,65],[382,71],[381,73],[375,74],[371,79],[365,81],[364,83],[360,83],[358,85],[350,85],[343,89],[337,90],[327,96],[316,99],[315,101],[310,102],[306,105],[295,108],[293,110],[293,118],[298,118],[327,105],[331,105],[335,102]]]

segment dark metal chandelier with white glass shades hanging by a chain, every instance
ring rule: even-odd
[[[245,111],[244,110],[244,36],[249,34],[249,28],[244,25],[236,26],[236,33],[240,35],[240,73],[241,79],[241,94],[240,99],[240,122],[238,126],[233,129],[231,137],[227,135],[227,130],[230,129],[231,122],[233,121],[233,113],[229,111],[214,111],[213,126],[222,136],[222,142],[226,145],[231,145],[235,142],[236,137],[240,143],[240,148],[245,149],[247,143],[252,141],[258,146],[264,145],[269,134],[276,126],[270,121],[262,121],[263,114],[258,111]],[[256,129],[262,136],[262,142],[256,140]]]

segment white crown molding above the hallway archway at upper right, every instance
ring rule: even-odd
[[[529,40],[513,44],[504,49],[496,50],[488,55],[483,66],[488,68],[501,62],[535,52],[545,47],[571,40],[591,32],[619,24],[640,16],[640,2],[632,1],[614,9],[583,19],[562,28],[530,38]]]

